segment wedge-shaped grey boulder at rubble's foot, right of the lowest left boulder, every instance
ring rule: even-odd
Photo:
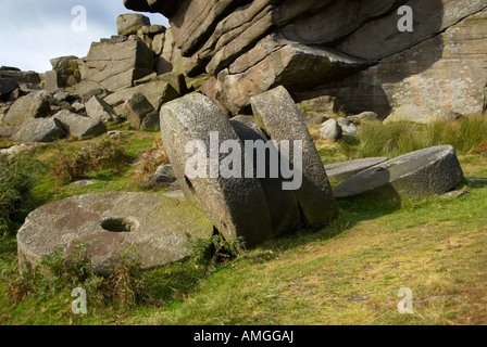
[[[61,121],[67,133],[78,139],[107,132],[107,127],[100,119],[84,117],[66,110],[57,113],[54,118]]]

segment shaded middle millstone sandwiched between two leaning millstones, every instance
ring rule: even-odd
[[[247,116],[236,116],[230,119],[230,125],[235,132],[240,138],[240,141],[262,141],[264,144],[267,138],[262,132],[262,130]],[[270,142],[271,143],[271,142]],[[277,155],[277,149],[272,145],[272,150]],[[253,151],[253,166],[254,169],[258,165],[263,165],[263,159],[265,166],[265,175],[259,177],[259,181],[265,193],[265,198],[269,206],[269,211],[271,213],[271,222],[273,236],[295,232],[301,226],[300,213],[298,207],[298,201],[292,191],[283,190],[283,178],[270,178],[270,153],[265,152],[265,156],[260,159],[258,157],[257,151]]]

